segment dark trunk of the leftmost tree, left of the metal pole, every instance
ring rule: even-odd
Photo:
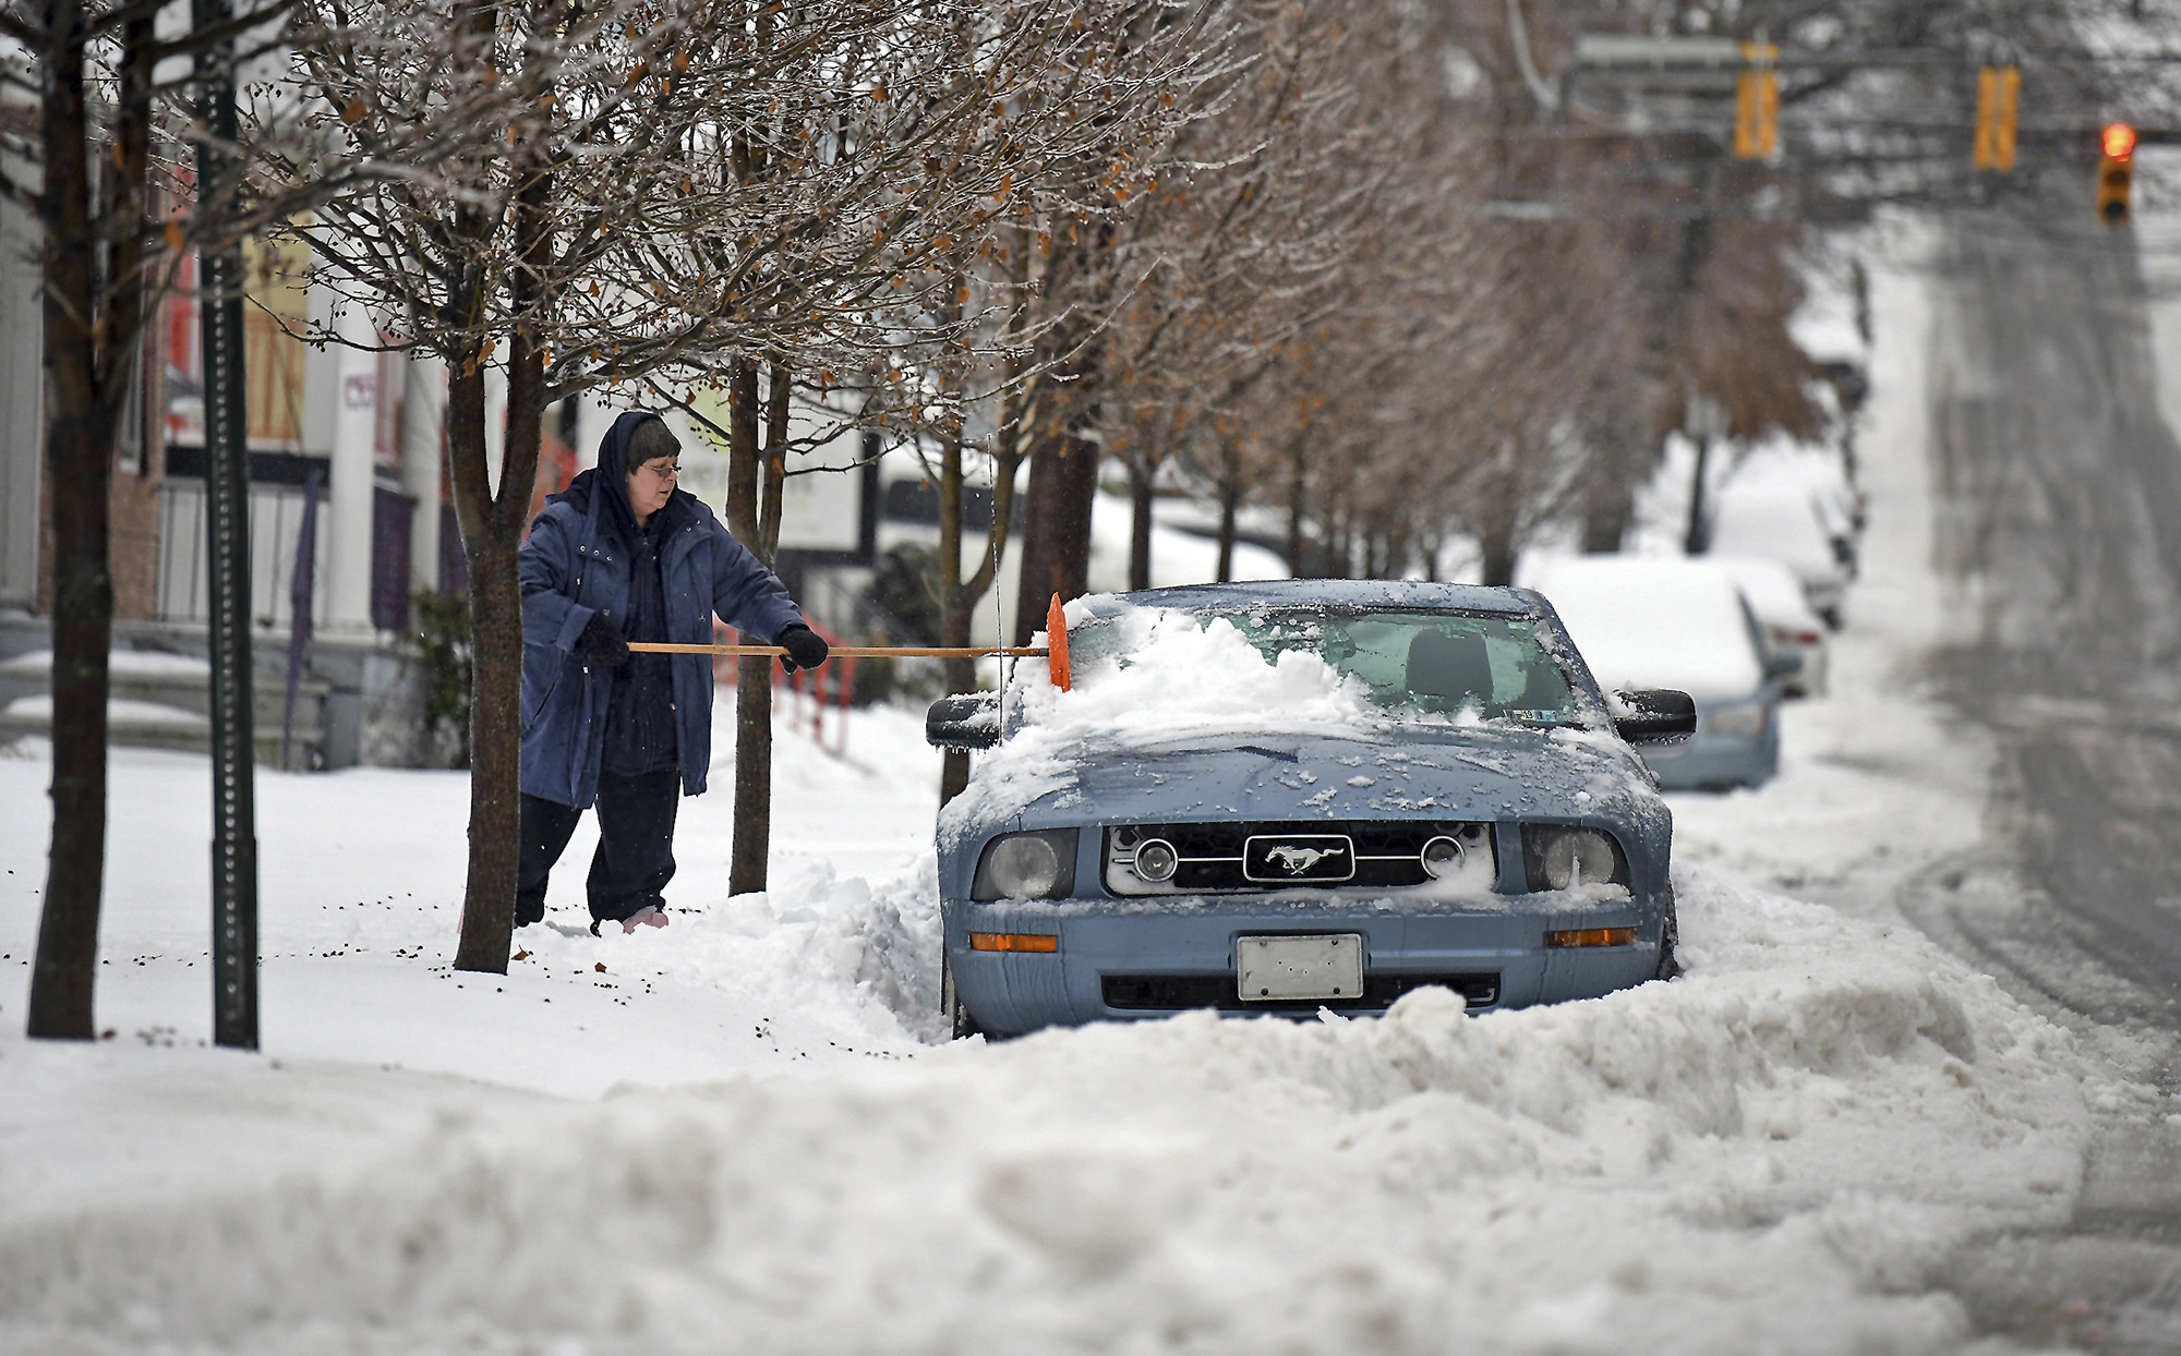
[[[46,477],[52,504],[52,855],[46,868],[31,1036],[92,1040],[98,900],[107,850],[107,647],[113,632],[109,488],[113,419],[96,382],[98,277],[85,168],[83,11],[52,7],[46,68],[44,344],[52,405]]]

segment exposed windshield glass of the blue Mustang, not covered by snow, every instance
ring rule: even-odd
[[[1474,715],[1522,724],[1583,724],[1568,676],[1525,617],[1374,608],[1191,610],[1197,626],[1228,621],[1269,665],[1313,654],[1357,678],[1367,702],[1389,715]],[[1069,632],[1075,671],[1095,680],[1130,667],[1138,628],[1095,619]]]

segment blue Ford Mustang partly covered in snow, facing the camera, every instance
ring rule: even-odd
[[[1176,637],[1226,667],[1176,669]],[[1073,691],[1038,669],[1005,709],[927,719],[992,750],[938,828],[957,1036],[1372,1014],[1424,985],[1520,1007],[1673,974],[1673,820],[1631,743],[1686,737],[1695,706],[1610,709],[1538,593],[1101,595],[1073,604],[1069,650]]]

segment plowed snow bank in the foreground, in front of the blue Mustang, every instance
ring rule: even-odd
[[[1690,974],[449,1107],[356,1171],[0,1223],[0,1352],[1921,1352],[2092,1077],[1919,935],[1682,879]],[[65,1339],[63,1339],[65,1334]]]

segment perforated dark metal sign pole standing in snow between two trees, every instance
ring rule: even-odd
[[[229,0],[192,0],[198,31]],[[198,203],[225,187],[236,142],[233,44],[198,52]],[[212,1040],[257,1049],[257,807],[251,733],[251,471],[242,392],[242,249],[198,255],[205,351],[205,536],[212,543]]]

